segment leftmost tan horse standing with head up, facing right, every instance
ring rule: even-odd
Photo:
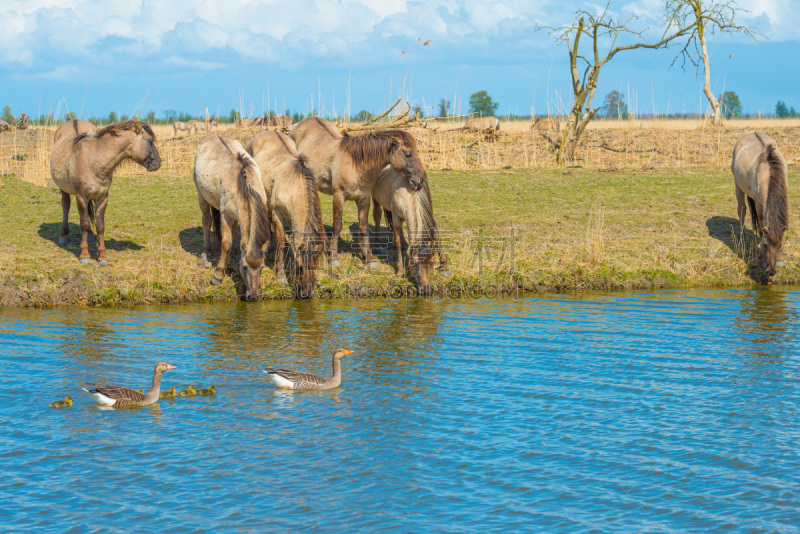
[[[100,265],[108,265],[105,214],[114,169],[126,159],[132,159],[148,171],[157,171],[161,167],[161,156],[156,148],[156,136],[150,126],[138,120],[118,122],[100,129],[95,129],[88,121],[76,120],[62,124],[54,137],[50,174],[61,189],[64,212],[58,242],[61,245],[69,242],[70,195],[75,195],[81,218],[79,259],[81,263],[91,261],[88,243],[91,223],[94,222],[97,260]]]

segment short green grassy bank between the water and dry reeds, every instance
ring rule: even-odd
[[[748,229],[739,241],[733,230],[736,201],[725,168],[434,171],[430,178],[454,275],[433,278],[439,295],[764,282],[755,237]],[[797,180],[791,171],[790,191],[798,190]],[[202,232],[189,176],[115,178],[106,216],[109,267],[78,263],[74,202],[71,242],[57,244],[56,189],[5,176],[0,195],[2,306],[241,298],[238,274],[212,286],[211,271],[197,261]],[[329,223],[330,197],[323,195],[322,204]],[[340,250],[349,250],[355,223],[349,203]],[[793,237],[790,230],[786,266],[772,283],[800,281]],[[94,246],[90,251],[96,258]],[[320,272],[318,296],[413,292],[410,283],[396,280],[393,255],[371,272],[351,254],[341,256],[342,267],[325,265]],[[292,297],[272,270],[265,269],[261,280],[264,298]]]

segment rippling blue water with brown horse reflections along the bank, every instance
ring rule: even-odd
[[[781,288],[0,310],[0,530],[797,532],[799,313]],[[337,390],[261,373],[340,346]],[[80,390],[161,360],[218,396]]]

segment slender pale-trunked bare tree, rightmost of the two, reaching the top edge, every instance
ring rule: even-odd
[[[728,0],[725,2],[703,1],[703,0],[667,0],[667,16],[673,20],[687,24],[694,21],[696,30],[689,35],[680,53],[675,57],[682,58],[684,64],[689,60],[698,70],[700,63],[703,64],[703,74],[705,83],[703,93],[711,104],[711,122],[722,124],[722,109],[719,101],[711,90],[711,67],[708,59],[708,48],[706,47],[706,31],[723,33],[743,33],[748,37],[756,39],[752,29],[736,24],[736,16],[747,11],[739,8],[736,2]]]

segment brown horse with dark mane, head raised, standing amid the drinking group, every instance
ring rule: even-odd
[[[377,130],[350,136],[325,119],[310,117],[289,131],[297,150],[306,156],[317,189],[333,195],[333,234],[330,240],[331,265],[339,260],[339,234],[342,231],[344,203],[358,205],[361,252],[370,267],[377,267],[369,247],[369,201],[378,173],[386,165],[398,171],[412,189],[419,189],[428,179],[417,153],[414,137],[403,130]]]

